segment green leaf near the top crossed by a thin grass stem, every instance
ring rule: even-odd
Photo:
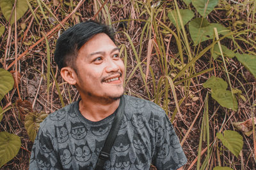
[[[180,11],[180,15],[184,25],[186,25],[189,22],[189,20],[191,20],[195,16],[193,11],[191,10],[179,10],[179,11]],[[176,10],[170,10],[168,12],[168,17],[170,21],[172,21],[172,23],[175,25],[175,27],[177,27],[177,22],[178,22],[179,28],[181,28],[179,16]]]

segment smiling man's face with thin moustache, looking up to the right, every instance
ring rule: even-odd
[[[124,94],[124,62],[107,34],[96,34],[80,48],[76,72],[81,96],[113,101]]]

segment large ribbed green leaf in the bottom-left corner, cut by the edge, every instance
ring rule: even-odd
[[[8,132],[0,132],[0,167],[17,155],[20,145],[19,136]]]

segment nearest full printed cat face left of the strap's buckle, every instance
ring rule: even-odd
[[[85,145],[76,145],[75,143],[75,158],[79,162],[87,162],[92,157],[92,151],[86,141]]]

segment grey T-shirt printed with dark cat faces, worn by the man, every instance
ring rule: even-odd
[[[170,120],[150,101],[125,96],[125,111],[104,169],[178,169],[187,159]],[[116,113],[92,122],[79,101],[51,113],[36,136],[30,170],[93,169]]]

